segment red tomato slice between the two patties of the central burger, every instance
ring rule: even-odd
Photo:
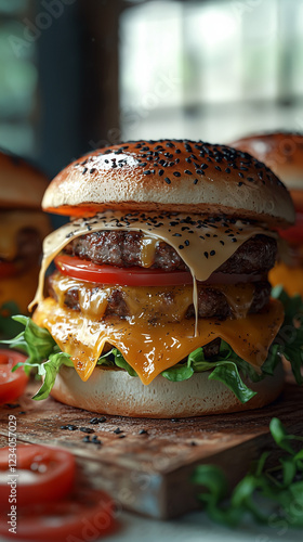
[[[97,266],[92,261],[74,256],[61,255],[55,258],[55,266],[62,274],[84,282],[98,284],[119,284],[120,286],[177,286],[193,284],[189,271],[163,271],[140,267],[118,268]]]

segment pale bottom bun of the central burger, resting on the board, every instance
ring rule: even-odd
[[[281,363],[274,376],[266,376],[260,383],[243,379],[258,391],[245,404],[224,384],[209,380],[209,374],[195,373],[188,380],[177,383],[159,375],[145,386],[126,371],[100,366],[88,382],[82,382],[73,367],[63,366],[51,395],[65,404],[101,414],[166,418],[260,409],[274,401],[284,388]]]

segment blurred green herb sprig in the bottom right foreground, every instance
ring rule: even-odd
[[[291,441],[303,437],[289,435],[274,417],[269,424],[272,437],[284,455],[275,467],[266,468],[271,452],[264,452],[228,498],[228,482],[221,468],[199,465],[193,482],[206,488],[198,499],[209,517],[228,527],[237,527],[248,517],[259,524],[303,527],[303,448],[295,452]],[[262,503],[262,504],[261,504]]]

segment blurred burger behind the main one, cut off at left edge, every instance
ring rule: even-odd
[[[18,324],[12,314],[27,313],[37,287],[42,240],[51,230],[41,211],[48,185],[43,173],[24,159],[0,151],[0,337]]]

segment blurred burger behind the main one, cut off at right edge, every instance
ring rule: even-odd
[[[303,296],[303,134],[272,132],[250,136],[232,143],[266,164],[287,185],[295,207],[295,224],[280,236],[280,261],[269,273],[273,286],[281,284],[289,295]]]

